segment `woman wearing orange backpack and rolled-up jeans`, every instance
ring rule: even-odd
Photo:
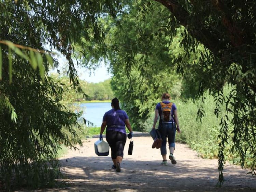
[[[172,164],[176,164],[176,160],[173,156],[175,150],[175,134],[176,130],[180,133],[179,127],[179,119],[177,114],[177,107],[175,103],[169,101],[170,95],[168,93],[163,93],[162,95],[162,102],[157,103],[155,108],[155,118],[152,129],[155,129],[157,119],[159,118],[159,126],[158,130],[160,131],[161,138],[162,138],[162,145],[161,145],[161,155],[163,158],[162,165],[167,165],[166,159],[166,143],[168,137],[168,144],[170,155],[169,159],[171,160]]]

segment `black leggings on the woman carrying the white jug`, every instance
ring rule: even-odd
[[[117,156],[124,156],[126,134],[121,133],[119,131],[107,131],[106,140],[111,148],[112,159],[116,159]]]

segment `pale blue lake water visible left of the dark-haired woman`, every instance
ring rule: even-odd
[[[111,102],[102,103],[81,103],[84,109],[83,117],[92,122],[94,127],[100,127],[105,112],[111,110]]]

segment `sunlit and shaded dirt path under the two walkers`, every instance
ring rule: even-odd
[[[217,160],[201,159],[184,144],[176,144],[177,164],[168,160],[168,165],[162,166],[160,149],[151,148],[151,137],[133,137],[132,155],[127,155],[127,140],[122,171],[116,172],[111,169],[110,155],[94,153],[96,140],[86,140],[80,151],[70,151],[61,159],[70,185],[49,191],[256,191],[256,178],[228,163],[224,167],[226,182],[222,188],[216,187]]]

